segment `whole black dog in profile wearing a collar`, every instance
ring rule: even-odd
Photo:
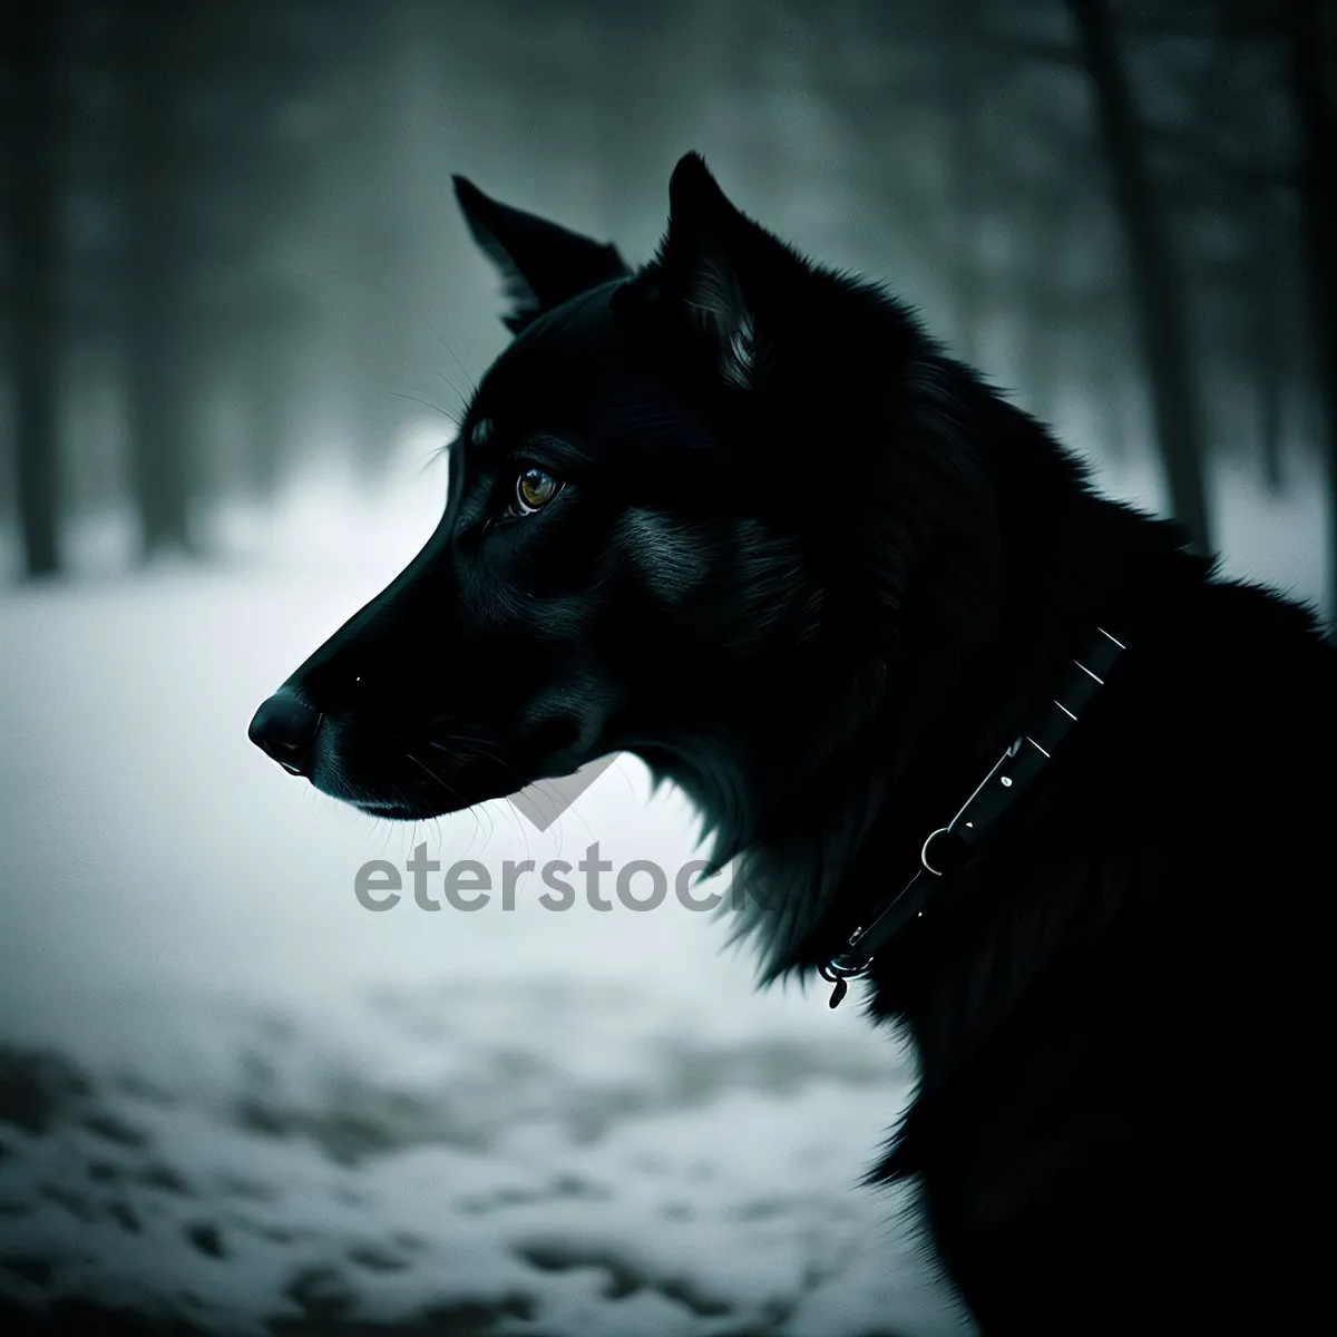
[[[635,274],[457,190],[517,338],[436,533],[251,737],[402,818],[636,753],[738,860],[766,976],[866,975],[909,1027],[874,1178],[919,1177],[985,1332],[1298,1330],[1337,742],[1312,616],[1094,495],[698,156]]]

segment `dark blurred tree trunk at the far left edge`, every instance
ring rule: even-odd
[[[56,381],[60,358],[57,185],[63,154],[57,92],[62,5],[37,0],[11,15],[8,51],[13,245],[15,465],[24,571],[60,570],[60,461]]]

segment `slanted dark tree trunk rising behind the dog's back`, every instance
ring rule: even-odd
[[[1157,441],[1170,509],[1197,545],[1210,550],[1203,485],[1206,441],[1189,357],[1183,282],[1146,162],[1146,135],[1132,106],[1107,0],[1067,0],[1095,96],[1096,128],[1114,207],[1127,239],[1128,269]]]

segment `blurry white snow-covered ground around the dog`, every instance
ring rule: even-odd
[[[723,925],[673,897],[353,894],[418,842],[495,881],[594,841],[671,872],[694,857],[678,796],[623,758],[547,832],[505,804],[410,829],[246,741],[425,537],[441,471],[414,475],[306,480],[275,517],[221,520],[237,556],[205,570],[118,574],[123,535],[88,525],[87,575],[0,594],[0,1320],[968,1332],[913,1203],[857,1186],[912,1074],[856,1008],[754,993]],[[1231,568],[1314,595],[1317,503],[1221,487]]]

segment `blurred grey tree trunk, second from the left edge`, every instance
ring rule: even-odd
[[[143,555],[193,551],[189,333],[178,96],[185,11],[150,4],[126,11],[130,103],[130,241],[126,364],[131,489]]]

